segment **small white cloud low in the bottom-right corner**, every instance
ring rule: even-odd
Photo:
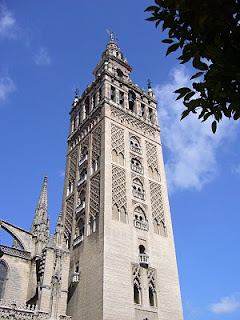
[[[210,305],[209,309],[216,314],[233,313],[240,310],[240,294],[236,293],[229,297],[223,297],[220,302]]]

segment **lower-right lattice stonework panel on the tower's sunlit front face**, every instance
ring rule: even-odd
[[[161,185],[153,181],[150,184],[152,217],[158,222],[165,221]]]

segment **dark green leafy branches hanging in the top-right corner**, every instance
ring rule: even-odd
[[[212,131],[222,116],[240,118],[240,1],[239,0],[155,0],[148,21],[167,29],[166,55],[177,49],[181,64],[192,61],[198,78],[192,88],[175,91],[190,112],[206,121],[214,118]],[[201,78],[199,78],[201,77]]]

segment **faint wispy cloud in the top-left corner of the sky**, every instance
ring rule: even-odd
[[[15,38],[16,20],[13,14],[3,5],[0,4],[0,37]]]

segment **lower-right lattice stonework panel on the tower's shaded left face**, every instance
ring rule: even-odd
[[[100,202],[100,173],[90,181],[90,216],[96,217],[99,213]]]

